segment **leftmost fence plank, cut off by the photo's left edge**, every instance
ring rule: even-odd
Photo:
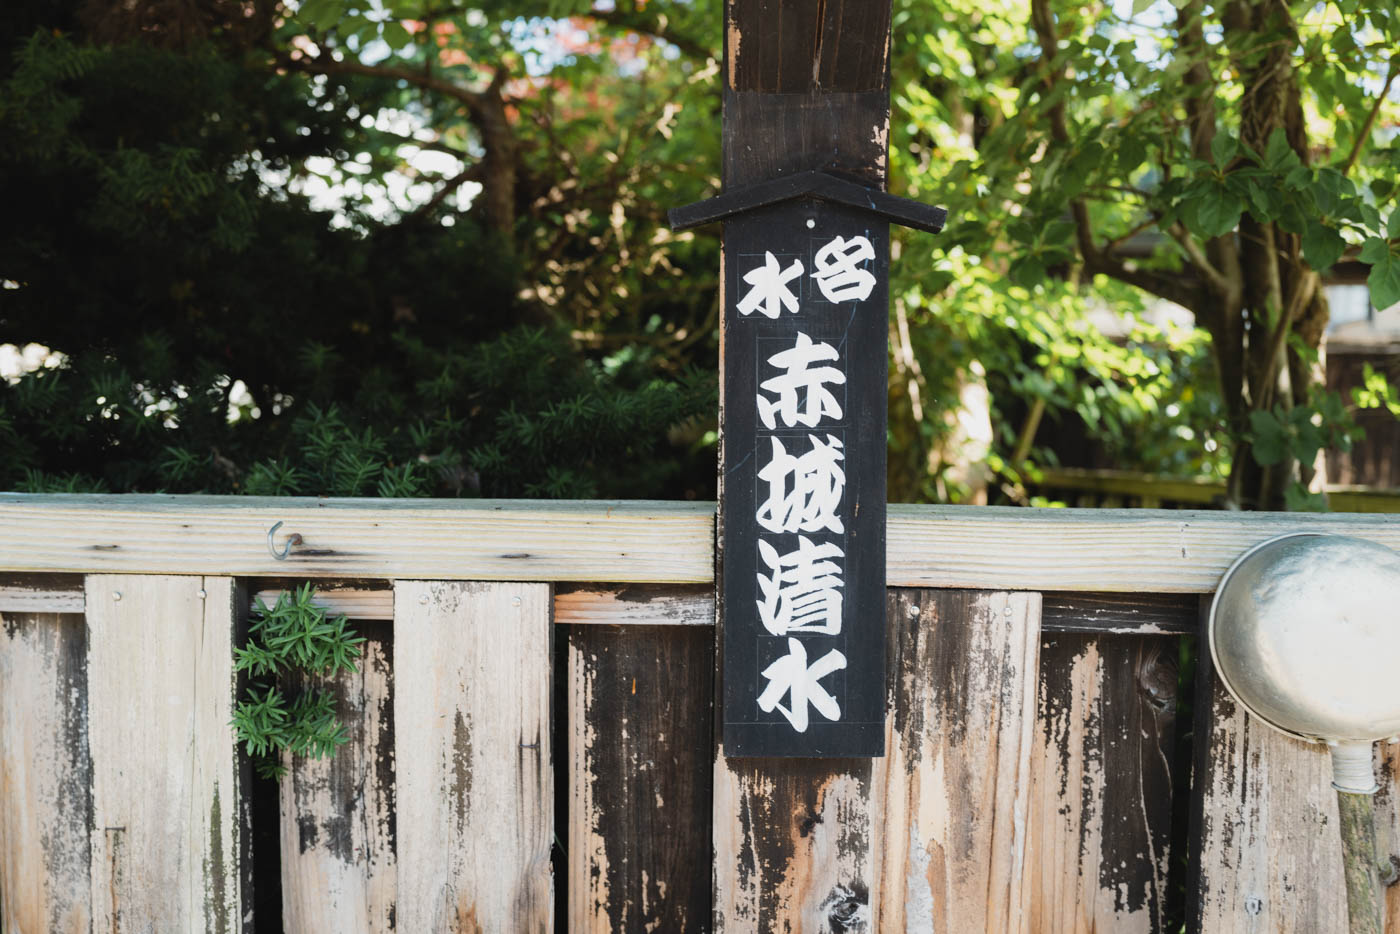
[[[87,934],[87,636],[81,616],[0,616],[0,931]]]

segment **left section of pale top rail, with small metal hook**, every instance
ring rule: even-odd
[[[287,560],[267,550],[301,535]],[[0,570],[398,580],[714,580],[714,504],[0,494]]]

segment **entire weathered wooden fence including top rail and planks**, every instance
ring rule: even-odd
[[[892,506],[876,760],[715,748],[711,504],[0,518],[4,934],[1345,927],[1327,756],[1179,661],[1246,548],[1400,546],[1387,517]],[[270,786],[231,651],[252,595],[304,580],[365,655],[329,682],[350,742]]]

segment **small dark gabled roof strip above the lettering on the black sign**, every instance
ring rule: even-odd
[[[941,231],[944,221],[948,220],[948,211],[942,207],[921,204],[820,169],[735,188],[694,204],[672,207],[666,211],[666,217],[673,230],[689,230],[794,197],[816,197],[823,202],[868,210],[893,224],[927,230],[931,234]]]

